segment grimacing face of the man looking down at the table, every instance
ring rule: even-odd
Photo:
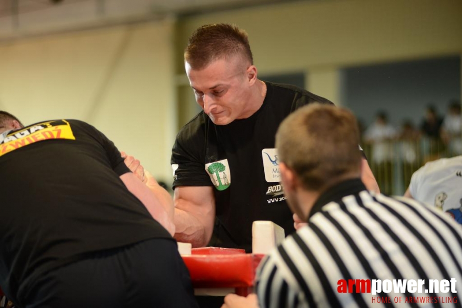
[[[226,125],[252,115],[246,110],[251,84],[242,62],[238,57],[221,59],[202,70],[192,69],[185,62],[186,74],[197,103],[217,125]]]

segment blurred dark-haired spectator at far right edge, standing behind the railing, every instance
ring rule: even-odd
[[[450,156],[462,154],[462,121],[460,102],[452,101],[441,126],[441,138],[448,145]]]

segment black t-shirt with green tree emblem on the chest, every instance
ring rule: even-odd
[[[216,224],[209,245],[250,252],[256,220],[275,222],[286,236],[295,230],[279,184],[275,134],[297,108],[332,102],[291,85],[266,82],[266,87],[263,105],[251,117],[215,125],[202,111],[177,135],[171,157],[174,188],[215,186]]]

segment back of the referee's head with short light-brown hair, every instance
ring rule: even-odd
[[[361,165],[354,114],[313,103],[289,115],[276,133],[279,161],[294,170],[307,190],[331,186]]]

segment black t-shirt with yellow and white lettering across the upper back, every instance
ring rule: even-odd
[[[41,122],[0,140],[0,283],[9,298],[87,253],[171,238],[126,189],[126,172],[114,144],[82,121]]]

